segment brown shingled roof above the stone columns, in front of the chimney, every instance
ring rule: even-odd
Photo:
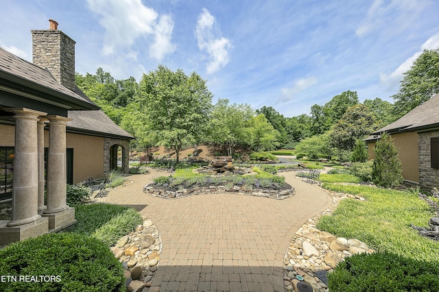
[[[14,82],[34,90],[38,90],[41,95],[53,99],[61,99],[64,104],[68,104],[71,109],[78,110],[97,110],[98,106],[93,104],[90,99],[82,97],[78,90],[73,92],[69,88],[59,84],[51,73],[39,66],[27,62],[13,53],[0,47],[0,78]],[[12,84],[11,84],[12,85]]]

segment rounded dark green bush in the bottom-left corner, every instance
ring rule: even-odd
[[[102,241],[84,234],[52,233],[26,239],[0,250],[0,258],[0,275],[45,277],[39,282],[0,282],[0,291],[126,289],[119,260]],[[47,279],[50,276],[54,280]]]

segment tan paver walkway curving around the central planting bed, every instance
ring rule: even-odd
[[[104,202],[137,208],[161,234],[163,252],[149,291],[284,291],[283,258],[294,232],[331,206],[315,185],[281,173],[296,188],[283,200],[248,195],[163,199],[143,193],[159,175],[131,175]]]

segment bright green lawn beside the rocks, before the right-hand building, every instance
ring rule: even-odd
[[[361,195],[366,201],[342,200],[332,215],[320,218],[320,230],[359,239],[379,252],[393,252],[417,260],[439,260],[439,242],[419,236],[410,227],[410,223],[427,226],[429,218],[434,216],[416,194],[373,186],[324,183],[323,187]]]

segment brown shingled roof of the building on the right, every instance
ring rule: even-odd
[[[424,130],[431,127],[439,126],[439,94],[431,97],[431,99],[420,104],[410,112],[407,112],[403,117],[381,127],[381,129],[372,133],[371,136],[365,140],[372,140],[379,138],[377,135],[382,132],[389,132],[393,134],[395,132],[412,132],[418,130]]]

